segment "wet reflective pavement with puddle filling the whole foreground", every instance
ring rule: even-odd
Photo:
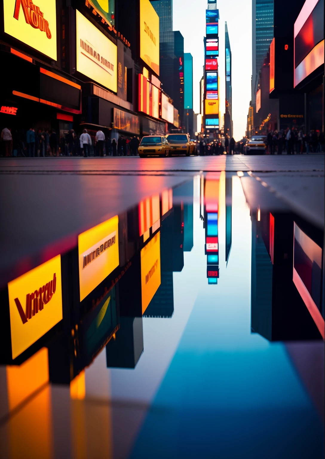
[[[323,458],[324,156],[75,161],[0,163],[1,457]]]

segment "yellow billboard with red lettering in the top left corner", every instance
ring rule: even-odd
[[[56,1],[4,0],[6,34],[56,61]]]

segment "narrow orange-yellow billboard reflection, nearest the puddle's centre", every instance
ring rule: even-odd
[[[146,311],[160,282],[160,231],[158,231],[141,250],[142,314]]]

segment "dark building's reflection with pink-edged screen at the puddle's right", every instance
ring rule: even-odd
[[[292,213],[252,219],[251,327],[269,341],[324,338],[323,232]]]

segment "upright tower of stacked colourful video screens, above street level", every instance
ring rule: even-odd
[[[219,10],[217,1],[208,0],[206,10],[206,39],[205,39],[205,129],[219,129],[219,83],[218,83],[218,56],[219,56]],[[214,9],[212,9],[214,8]]]

